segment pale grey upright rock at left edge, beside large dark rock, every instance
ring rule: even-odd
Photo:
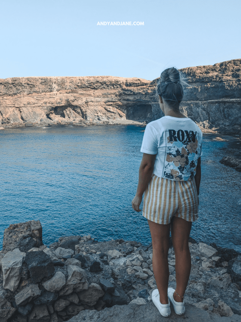
[[[21,277],[23,253],[15,248],[2,258],[3,287],[15,291]]]

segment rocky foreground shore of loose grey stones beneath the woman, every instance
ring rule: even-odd
[[[187,316],[192,312],[195,316],[198,310],[211,320],[241,319],[241,254],[192,238],[189,247]],[[175,288],[171,240],[168,262],[169,287]],[[116,321],[116,314],[133,315],[136,310],[140,314],[150,306],[157,311],[151,300],[156,289],[152,243],[98,242],[88,235],[60,237],[47,246],[42,242],[40,221],[32,220],[5,229],[0,265],[0,322],[111,322]]]

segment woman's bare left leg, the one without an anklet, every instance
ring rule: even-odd
[[[168,268],[168,250],[169,250],[169,236],[170,224],[162,225],[154,223],[147,219],[152,239],[152,267],[156,279],[157,289],[160,295],[160,302],[168,304],[167,288],[169,280]]]

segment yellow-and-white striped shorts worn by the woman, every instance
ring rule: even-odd
[[[142,215],[160,224],[173,216],[194,222],[198,219],[198,194],[195,179],[176,181],[152,174],[144,192]]]

